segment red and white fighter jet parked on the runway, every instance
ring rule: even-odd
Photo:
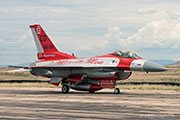
[[[39,61],[28,69],[31,74],[50,78],[50,83],[62,84],[62,92],[70,88],[94,93],[103,88],[115,88],[116,81],[131,76],[132,71],[161,72],[164,66],[145,60],[132,51],[78,58],[59,52],[40,25],[30,25],[38,50]],[[119,94],[118,88],[114,93]]]

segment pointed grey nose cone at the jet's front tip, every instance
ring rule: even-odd
[[[167,70],[167,68],[165,68],[164,66],[153,63],[151,61],[146,61],[143,65],[143,69],[147,72],[162,72]]]

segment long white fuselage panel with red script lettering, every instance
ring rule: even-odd
[[[37,62],[37,67],[117,67],[118,58],[79,58]]]

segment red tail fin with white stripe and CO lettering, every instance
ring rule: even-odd
[[[74,58],[74,56],[58,52],[57,48],[40,25],[30,25],[29,27],[32,30],[32,34],[38,50],[38,59]]]

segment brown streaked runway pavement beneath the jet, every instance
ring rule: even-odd
[[[59,88],[0,88],[0,119],[179,120],[180,91],[112,89],[95,94]]]

